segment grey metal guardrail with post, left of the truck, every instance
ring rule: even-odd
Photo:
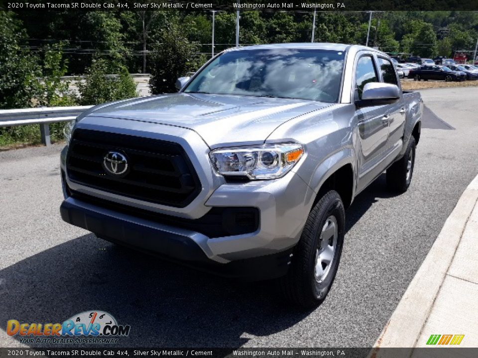
[[[0,109],[0,127],[39,124],[41,142],[49,146],[50,123],[67,122],[93,106],[38,107],[24,109]]]

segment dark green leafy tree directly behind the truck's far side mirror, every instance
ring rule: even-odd
[[[152,45],[151,92],[175,92],[176,80],[196,71],[205,62],[198,51],[198,45],[189,42],[176,25],[170,24],[163,29]]]

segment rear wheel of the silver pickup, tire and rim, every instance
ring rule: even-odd
[[[410,137],[405,155],[387,169],[387,186],[390,190],[403,193],[408,190],[415,167],[415,138]]]

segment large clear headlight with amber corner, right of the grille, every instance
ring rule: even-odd
[[[209,153],[209,157],[216,171],[223,176],[276,179],[286,175],[303,154],[301,144],[284,143],[216,149]]]

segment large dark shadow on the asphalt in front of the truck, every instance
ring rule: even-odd
[[[219,278],[94,235],[0,270],[0,278],[3,331],[10,319],[62,323],[77,313],[102,310],[131,326],[117,347],[240,347],[248,333],[270,335],[308,315],[288,306],[273,282]]]

